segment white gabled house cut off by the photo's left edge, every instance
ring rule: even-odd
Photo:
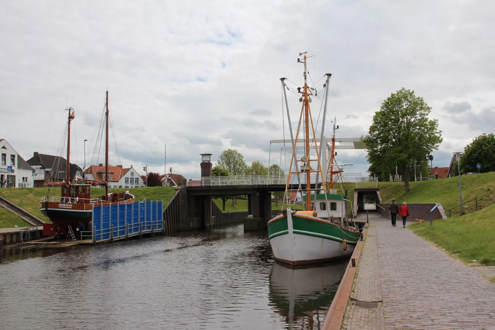
[[[5,139],[0,139],[0,186],[33,187],[33,168]]]

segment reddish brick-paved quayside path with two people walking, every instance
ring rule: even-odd
[[[379,286],[387,330],[495,330],[495,284],[402,228],[401,223],[397,220],[397,227],[393,227],[390,220],[370,218],[369,229],[376,225],[377,258],[369,236],[354,282],[357,292],[351,293],[351,298],[379,298],[373,296]],[[374,265],[365,263],[369,257],[376,261]],[[378,282],[374,280],[377,269]],[[370,283],[375,288],[370,289]],[[343,329],[380,329],[380,310],[364,313],[348,305]]]

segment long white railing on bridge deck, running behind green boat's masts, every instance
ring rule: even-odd
[[[306,175],[300,174],[301,184],[305,183]],[[310,183],[316,181],[316,173],[311,173]],[[249,186],[249,185],[272,185],[286,184],[287,175],[240,175],[240,176],[208,176],[187,178],[186,185],[190,187],[197,186]],[[321,175],[318,176],[318,182],[321,182]],[[297,175],[291,176],[291,184],[297,184]]]

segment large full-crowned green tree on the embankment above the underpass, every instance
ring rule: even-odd
[[[414,160],[426,159],[443,140],[438,120],[428,118],[430,112],[431,107],[423,98],[402,88],[383,101],[364,139],[370,168],[388,176],[387,172],[398,166],[403,173],[406,192],[409,191]]]

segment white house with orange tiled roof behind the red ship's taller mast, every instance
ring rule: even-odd
[[[91,165],[83,172],[86,179],[104,180],[105,166]],[[108,166],[110,188],[141,188],[145,186],[143,179],[134,167],[123,168],[122,165]]]

